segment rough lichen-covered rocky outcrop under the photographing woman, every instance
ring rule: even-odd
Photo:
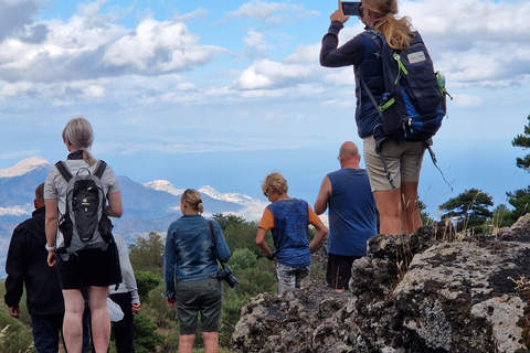
[[[336,293],[308,280],[253,298],[234,350],[529,352],[530,214],[491,236],[460,236],[442,224],[374,236],[353,263],[350,289]]]

